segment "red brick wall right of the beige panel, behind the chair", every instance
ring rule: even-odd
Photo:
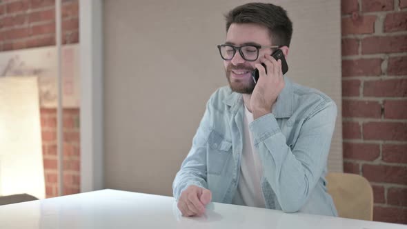
[[[407,223],[407,1],[341,13],[344,171],[372,184],[375,221]]]

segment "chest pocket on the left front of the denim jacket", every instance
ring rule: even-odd
[[[208,174],[221,175],[232,158],[232,142],[224,139],[218,132],[212,130],[208,138],[208,152],[206,164]]]

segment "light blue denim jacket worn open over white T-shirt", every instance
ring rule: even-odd
[[[263,163],[266,208],[337,216],[326,189],[326,163],[337,107],[326,94],[292,83],[272,113],[249,125]],[[244,102],[229,87],[210,97],[192,148],[172,184],[174,197],[190,185],[208,188],[212,201],[231,203],[239,182]]]

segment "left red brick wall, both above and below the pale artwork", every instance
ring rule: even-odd
[[[0,51],[55,45],[54,0],[0,1]],[[79,42],[79,1],[62,1],[62,43]],[[46,197],[58,195],[57,111],[41,108]],[[79,192],[79,108],[63,111],[64,194]]]

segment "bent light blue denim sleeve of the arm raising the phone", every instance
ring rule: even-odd
[[[321,102],[308,117],[296,123],[302,126],[292,147],[287,146],[274,115],[264,115],[250,123],[264,177],[284,212],[297,212],[304,206],[326,168],[336,116],[333,101]]]

